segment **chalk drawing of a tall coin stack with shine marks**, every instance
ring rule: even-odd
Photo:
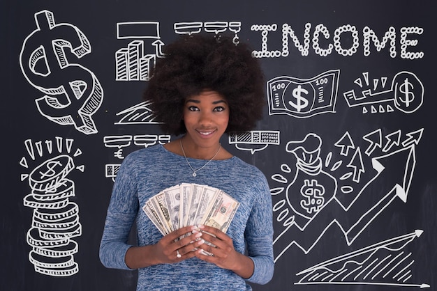
[[[84,172],[84,166],[75,166],[74,161],[82,151],[73,151],[73,139],[61,137],[44,142],[27,139],[24,145],[29,157],[22,157],[20,165],[31,173],[22,173],[21,180],[27,180],[31,193],[24,196],[23,203],[34,209],[27,232],[27,244],[32,248],[29,261],[40,274],[72,276],[79,272],[74,260],[78,245],[73,238],[82,235],[82,225],[79,205],[71,201],[75,182],[67,176],[75,169]],[[47,159],[47,155],[52,157]],[[32,170],[31,164],[43,158]]]

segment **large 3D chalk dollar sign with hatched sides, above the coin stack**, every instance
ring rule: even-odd
[[[48,10],[35,13],[37,29],[24,40],[20,67],[29,84],[45,95],[36,99],[38,111],[59,125],[74,125],[84,134],[95,134],[92,118],[103,102],[103,88],[73,56],[91,52],[87,37],[72,24],[55,24]]]

